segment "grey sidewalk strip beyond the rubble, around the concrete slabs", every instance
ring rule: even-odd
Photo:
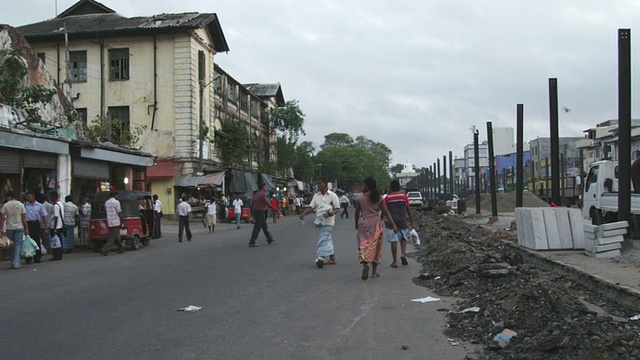
[[[509,229],[511,222],[515,220],[515,215],[512,213],[499,214],[498,222],[488,225],[489,215],[474,216],[475,218],[465,219],[465,221],[494,229]],[[640,298],[640,248],[637,241],[634,244],[633,247],[624,249],[621,257],[613,259],[595,259],[586,256],[583,250],[533,251],[520,248],[533,256],[569,267],[596,280],[622,288]]]

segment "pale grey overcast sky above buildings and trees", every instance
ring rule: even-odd
[[[12,2],[0,23],[52,18],[55,3]],[[58,12],[75,3],[58,0]],[[617,118],[617,30],[632,29],[634,65],[640,49],[640,1],[101,3],[123,16],[217,13],[230,51],[215,61],[242,83],[281,83],[306,114],[303,140],[319,146],[331,132],[364,135],[393,151],[392,164],[417,167],[450,150],[461,156],[473,125],[481,141],[487,121],[515,128],[517,103],[525,105],[525,140],[549,136],[549,78],[558,78],[560,136]]]

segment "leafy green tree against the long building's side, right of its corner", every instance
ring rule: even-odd
[[[249,133],[239,120],[227,117],[222,121],[221,134],[216,134],[215,143],[224,166],[245,169],[248,165]]]

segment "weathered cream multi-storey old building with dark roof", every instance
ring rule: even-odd
[[[278,85],[270,100],[215,65],[214,56],[229,51],[215,13],[124,17],[80,0],[18,30],[82,121],[100,125],[102,140],[154,156],[146,181],[167,209],[175,207],[174,187],[223,185],[229,166],[216,142],[226,119],[246,126],[249,168],[275,156],[268,110],[284,104],[282,91]]]

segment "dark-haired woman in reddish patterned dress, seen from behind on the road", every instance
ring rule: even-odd
[[[393,225],[393,231],[398,231],[389,210],[377,189],[376,180],[372,177],[364,179],[362,194],[356,198],[356,230],[358,232],[358,253],[360,263],[363,264],[362,280],[369,278],[369,263],[371,263],[371,277],[379,277],[378,264],[380,263],[380,251],[382,250],[382,220],[380,211]]]

